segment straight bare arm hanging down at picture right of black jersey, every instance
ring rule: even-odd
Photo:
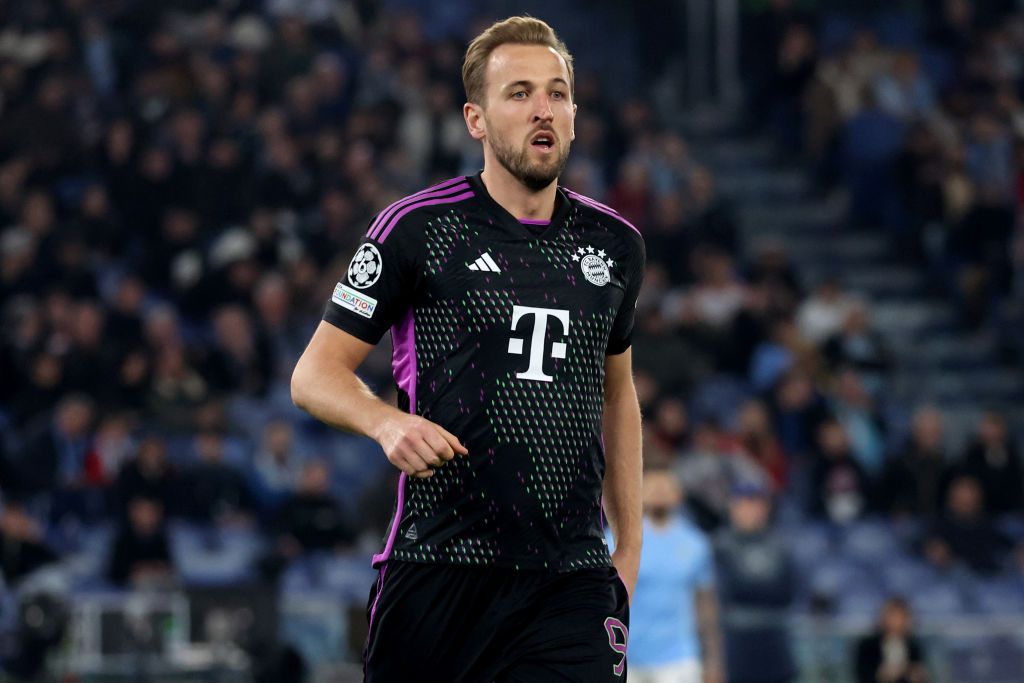
[[[615,541],[611,560],[632,596],[643,536],[640,402],[633,386],[632,349],[604,361],[604,513]]]

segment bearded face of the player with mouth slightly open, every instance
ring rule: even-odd
[[[565,61],[543,45],[506,44],[487,60],[482,131],[498,162],[538,191],[565,168],[575,105]]]

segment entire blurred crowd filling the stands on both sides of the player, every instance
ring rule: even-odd
[[[910,25],[919,43],[883,47],[769,4],[744,41],[776,55],[749,71],[761,119],[823,190],[850,189],[854,224],[943,273],[969,325],[1019,335],[1024,15],[950,0]],[[0,5],[8,585],[100,523],[119,527],[104,575],[130,584],[173,581],[168,519],[255,529],[267,578],[373,546],[388,522],[396,472],[301,416],[288,383],[373,214],[481,166],[459,80],[478,27],[428,40],[374,2],[209,5]],[[784,246],[744,256],[666,113],[605,85],[581,63],[562,182],[645,236],[645,459],[677,473],[700,527],[728,528],[731,494],[753,486],[780,521],[910,519],[906,552],[935,567],[1024,572],[1024,535],[1002,523],[1024,512],[1006,418],[950,452],[942,414],[910,407],[894,436],[869,302],[807,287]],[[385,349],[364,373],[388,395]]]

